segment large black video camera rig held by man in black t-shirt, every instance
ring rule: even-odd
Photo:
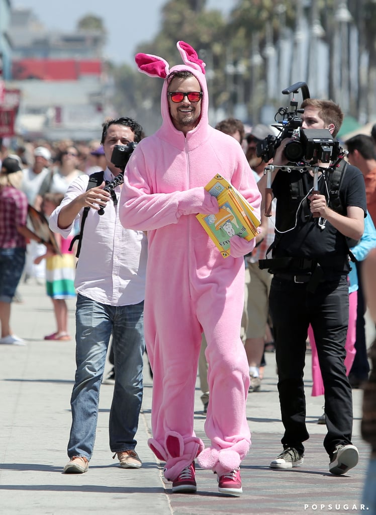
[[[298,93],[301,89],[303,100],[310,98],[310,92],[305,82],[296,82],[282,91],[284,95],[290,93]],[[298,109],[298,102],[293,99],[290,101],[292,111],[286,108],[279,108],[276,113],[275,121],[279,125],[276,127],[280,134],[274,136],[269,134],[265,140],[260,141],[256,147],[256,153],[266,163],[273,159],[276,150],[280,146],[281,141],[286,138],[293,138],[286,144],[283,153],[290,163],[310,162],[315,164],[318,161],[329,163],[335,161],[340,153],[339,143],[333,139],[328,129],[302,129],[302,120],[298,113],[302,113],[303,109]],[[277,120],[277,116],[281,115],[282,119]]]

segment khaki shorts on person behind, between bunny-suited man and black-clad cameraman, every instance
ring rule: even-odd
[[[246,280],[247,291],[247,338],[262,338],[269,317],[269,290],[272,274],[260,270],[259,263],[248,263],[250,281]]]

